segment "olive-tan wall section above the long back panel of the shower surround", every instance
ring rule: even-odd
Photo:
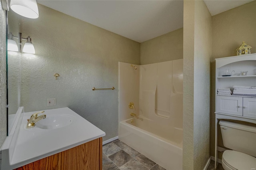
[[[140,43],[141,65],[182,58],[183,28]]]

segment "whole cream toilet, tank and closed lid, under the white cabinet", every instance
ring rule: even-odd
[[[220,121],[223,144],[224,170],[256,170],[256,127]]]

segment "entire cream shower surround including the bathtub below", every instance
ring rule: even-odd
[[[162,167],[181,170],[183,59],[134,67],[119,62],[119,139]]]

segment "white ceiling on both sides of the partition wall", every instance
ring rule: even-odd
[[[213,16],[252,0],[204,1]],[[37,2],[136,42],[144,42],[183,27],[183,0],[38,0]]]

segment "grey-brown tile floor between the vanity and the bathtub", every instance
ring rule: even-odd
[[[120,140],[102,147],[103,170],[165,170]]]

